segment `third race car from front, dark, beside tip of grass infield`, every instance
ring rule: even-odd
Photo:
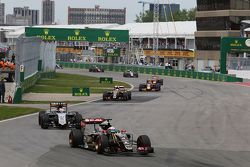
[[[131,100],[131,91],[127,91],[124,86],[115,86],[113,91],[103,93],[103,101],[106,100]]]

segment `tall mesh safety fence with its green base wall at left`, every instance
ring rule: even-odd
[[[56,43],[20,36],[17,40],[16,55],[16,91],[13,103],[20,103],[23,92],[35,85],[40,78],[54,76]]]

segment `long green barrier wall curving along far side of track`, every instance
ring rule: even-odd
[[[184,70],[170,70],[162,67],[150,67],[150,66],[133,66],[123,64],[92,64],[92,63],[72,63],[72,62],[57,62],[59,65],[65,68],[80,68],[88,69],[91,66],[97,66],[104,68],[107,71],[124,72],[126,70],[133,70],[134,72],[142,74],[153,75],[166,75],[173,77],[184,77],[192,79],[210,80],[210,81],[222,81],[222,82],[242,82],[242,78],[237,78],[232,75],[220,74],[220,73],[205,73],[196,71],[184,71]]]

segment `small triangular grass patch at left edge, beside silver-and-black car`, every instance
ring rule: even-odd
[[[0,106],[0,120],[14,118],[22,115],[32,114],[42,111],[37,108],[26,108],[26,107],[8,107]]]

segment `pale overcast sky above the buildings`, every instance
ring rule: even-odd
[[[40,10],[41,20],[41,4],[42,0],[0,0],[5,3],[5,15],[12,14],[14,7],[28,6],[30,9]],[[127,8],[126,22],[132,23],[142,11],[140,0],[54,0],[55,1],[55,21],[59,24],[67,24],[68,6],[74,8],[94,8],[100,5],[101,8]],[[143,0],[144,1],[144,0]],[[154,2],[154,0],[145,0]],[[190,9],[196,6],[196,0],[159,0],[160,3],[176,3],[180,4],[181,9]],[[145,10],[149,8],[145,5]],[[40,21],[41,22],[41,21]]]

